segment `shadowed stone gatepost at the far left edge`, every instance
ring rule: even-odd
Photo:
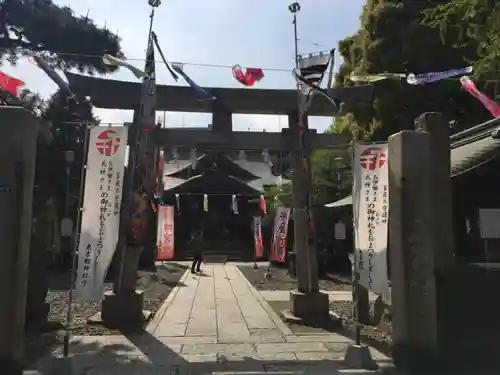
[[[0,107],[0,368],[22,374],[29,247],[39,123],[21,107]]]

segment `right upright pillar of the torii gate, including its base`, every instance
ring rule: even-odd
[[[290,293],[290,310],[298,318],[328,316],[328,295],[319,292],[317,254],[309,246],[308,234],[308,189],[309,176],[306,170],[309,134],[305,134],[306,147],[300,142],[298,112],[288,115],[288,135],[291,149],[294,251],[297,265],[298,290]]]

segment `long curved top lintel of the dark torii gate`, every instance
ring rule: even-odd
[[[80,96],[89,96],[98,108],[133,110],[139,106],[140,82],[66,73],[71,89]],[[217,97],[214,101],[199,102],[188,86],[157,85],[159,111],[213,112],[214,106],[223,106],[232,113],[285,115],[297,108],[296,90],[271,90],[257,88],[205,88]],[[371,100],[373,85],[363,88],[330,89],[339,101],[358,102]],[[337,109],[322,95],[317,95],[308,114],[334,116]]]

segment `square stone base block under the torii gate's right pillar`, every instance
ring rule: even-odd
[[[330,306],[328,294],[322,292],[290,292],[290,311],[302,319],[329,318]]]

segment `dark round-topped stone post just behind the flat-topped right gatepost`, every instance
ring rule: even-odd
[[[431,138],[431,194],[433,236],[436,243],[434,266],[443,271],[455,263],[452,221],[452,190],[450,173],[450,127],[441,113],[420,115],[417,129],[429,133]]]

